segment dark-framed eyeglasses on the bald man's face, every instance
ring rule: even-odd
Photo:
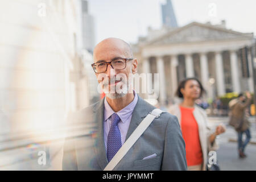
[[[104,73],[108,69],[108,65],[110,64],[111,67],[115,70],[121,70],[126,68],[126,61],[133,60],[133,58],[115,58],[112,61],[98,61],[97,63],[91,64],[93,71],[95,73]]]

